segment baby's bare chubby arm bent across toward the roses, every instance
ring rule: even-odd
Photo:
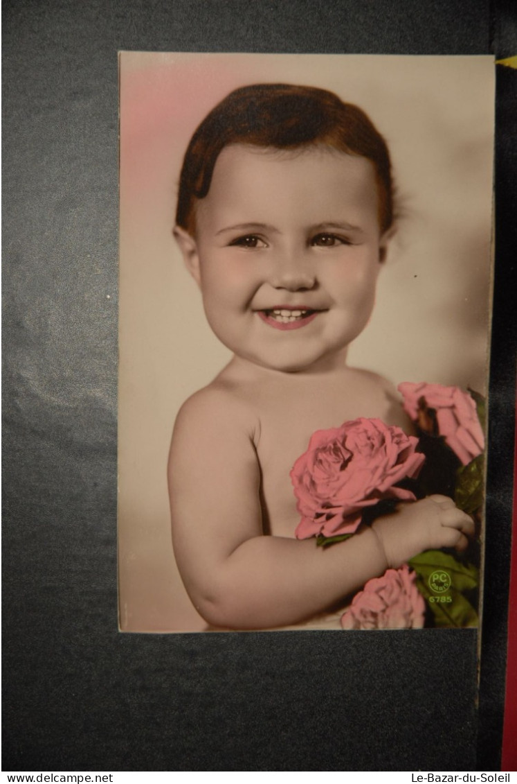
[[[194,606],[215,626],[256,629],[302,621],[396,561],[429,547],[454,546],[452,539],[461,546],[461,530],[470,531],[469,517],[456,510],[459,517],[443,522],[437,504],[426,499],[326,549],[313,539],[263,535],[252,435],[243,407],[208,389],[183,406],[172,439],[175,557]],[[396,536],[387,532],[392,517]]]

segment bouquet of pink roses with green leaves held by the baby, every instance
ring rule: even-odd
[[[418,437],[380,419],[317,430],[291,470],[302,518],[298,539],[328,546],[401,501],[439,493],[480,521],[483,398],[439,384],[403,383],[403,406]],[[463,557],[428,550],[371,579],[342,616],[344,629],[473,626],[479,545]]]

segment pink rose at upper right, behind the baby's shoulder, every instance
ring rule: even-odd
[[[456,453],[464,466],[483,452],[485,438],[479,424],[475,401],[459,387],[441,384],[399,384],[403,406],[421,430],[432,433],[433,419],[429,409],[436,412],[438,434]]]

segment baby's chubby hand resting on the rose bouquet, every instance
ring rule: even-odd
[[[446,495],[429,495],[421,501],[400,504],[394,514],[378,517],[372,528],[389,567],[397,568],[423,550],[465,550],[467,537],[474,534],[474,521]]]

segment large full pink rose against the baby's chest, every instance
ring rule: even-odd
[[[354,419],[341,427],[316,430],[307,452],[291,470],[302,519],[298,539],[353,533],[364,507],[381,499],[414,501],[397,482],[416,477],[425,457],[418,439],[380,419]]]

